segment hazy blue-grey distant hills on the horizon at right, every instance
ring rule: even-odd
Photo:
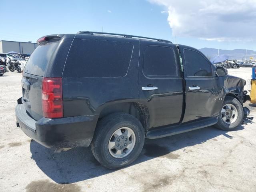
[[[205,54],[208,58],[214,57],[218,55],[218,49],[214,48],[202,48],[199,49],[203,54]],[[223,50],[220,49],[219,54],[228,55],[230,60],[244,60],[245,58],[245,49],[234,49],[234,50]],[[246,60],[249,60],[250,57],[253,57],[253,60],[256,60],[256,51],[247,50]]]

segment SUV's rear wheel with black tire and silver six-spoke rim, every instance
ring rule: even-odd
[[[124,133],[122,133],[120,136],[115,137],[114,133],[120,128],[128,128],[129,130],[132,130],[134,135],[131,135],[128,138],[128,142],[131,138],[135,138],[135,140],[132,140],[134,145],[133,148],[130,147],[130,149],[123,148],[126,150],[124,153],[124,156],[120,155],[119,157],[114,157],[114,152],[117,151],[115,148],[119,145],[118,144],[118,138],[120,136],[125,136]],[[121,129],[122,131],[124,129]],[[126,131],[126,130],[125,130]],[[113,135],[114,134],[114,135]],[[135,137],[134,137],[135,136]],[[110,142],[114,137],[114,146],[113,149],[110,149]],[[121,139],[121,138],[120,138]],[[127,139],[127,138],[125,138]],[[134,116],[126,113],[114,113],[106,116],[96,126],[96,130],[94,132],[94,138],[91,143],[91,150],[92,154],[96,158],[102,166],[105,166],[109,169],[117,169],[121,168],[123,166],[127,166],[134,162],[140,155],[140,152],[142,151],[143,145],[145,140],[145,134],[144,129],[142,127],[142,124],[138,119],[136,119]],[[112,141],[112,142],[113,142]],[[122,142],[119,145],[119,148],[121,146],[124,146],[126,144],[126,141],[124,139],[121,139]],[[131,142],[131,141],[130,141]],[[129,144],[130,145],[130,144]],[[128,147],[128,145],[127,145]],[[129,151],[130,150],[130,151]]]

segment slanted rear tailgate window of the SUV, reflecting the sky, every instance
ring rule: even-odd
[[[34,52],[31,54],[30,58],[26,62],[24,72],[44,76],[44,72],[52,53],[57,48],[58,42],[50,42],[47,44],[40,44]]]

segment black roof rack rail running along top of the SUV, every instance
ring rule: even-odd
[[[145,40],[155,40],[158,42],[167,42],[172,43],[171,41],[164,40],[164,39],[156,39],[150,37],[142,37],[142,36],[135,36],[135,35],[126,35],[126,34],[118,34],[118,33],[105,33],[105,32],[94,32],[94,31],[78,31],[76,34],[86,34],[86,35],[94,35],[94,34],[102,34],[102,35],[113,35],[113,36],[123,36],[124,38],[138,38],[138,39],[145,39]]]

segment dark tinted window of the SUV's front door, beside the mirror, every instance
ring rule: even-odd
[[[184,49],[186,73],[189,77],[210,77],[212,76],[211,65],[198,52]]]

